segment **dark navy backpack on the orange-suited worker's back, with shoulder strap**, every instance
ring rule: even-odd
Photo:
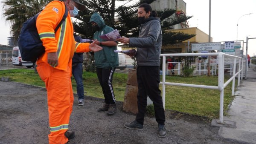
[[[36,19],[39,14],[40,12],[35,16],[31,17],[25,23],[23,23],[20,31],[18,45],[20,49],[21,58],[24,61],[35,62],[37,58],[40,57],[45,52],[45,48],[38,35],[38,30],[36,28]],[[61,22],[55,28],[55,33],[67,18],[67,14],[68,14],[68,11],[65,5],[65,14],[63,15]]]

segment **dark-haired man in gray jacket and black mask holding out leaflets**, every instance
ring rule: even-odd
[[[129,43],[130,47],[137,47],[137,52],[127,55],[137,58],[137,82],[138,82],[138,114],[135,121],[125,123],[128,129],[143,129],[144,116],[147,107],[147,97],[153,101],[156,121],[158,123],[158,136],[166,137],[165,113],[163,100],[159,89],[160,83],[160,52],[162,46],[162,30],[157,13],[152,11],[150,5],[143,3],[138,9],[140,24],[139,37],[121,37],[117,39],[121,43]]]

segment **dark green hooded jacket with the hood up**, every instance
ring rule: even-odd
[[[90,18],[90,22],[95,22],[99,26],[99,31],[96,31],[93,35],[94,40],[106,41],[99,38],[100,35],[105,35],[112,32],[114,29],[105,25],[104,20],[98,13],[93,13]],[[101,45],[102,46],[102,45]],[[102,46],[102,50],[94,53],[96,68],[113,69],[119,66],[118,53],[114,52],[117,49],[116,46]]]

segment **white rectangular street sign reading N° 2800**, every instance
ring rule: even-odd
[[[221,43],[192,43],[192,51],[211,51],[211,50],[220,50]]]

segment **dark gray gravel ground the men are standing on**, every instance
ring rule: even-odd
[[[97,112],[102,102],[86,96],[84,106],[78,106],[75,97],[69,128],[76,137],[69,144],[239,144],[219,137],[218,127],[204,118],[167,110],[166,138],[157,136],[154,117],[145,117],[143,131],[126,129],[124,123],[135,115],[123,112],[122,102],[115,115]],[[0,144],[47,144],[48,133],[46,89],[0,81]]]

